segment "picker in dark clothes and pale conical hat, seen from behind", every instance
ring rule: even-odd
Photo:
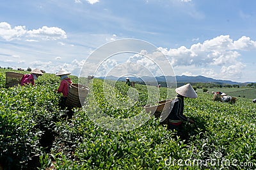
[[[174,99],[173,109],[168,115],[168,129],[176,129],[180,131],[182,126],[182,121],[188,121],[190,123],[195,123],[195,121],[189,119],[183,114],[184,111],[184,98],[196,98],[196,92],[192,88],[191,84],[186,84],[175,89],[177,97]]]

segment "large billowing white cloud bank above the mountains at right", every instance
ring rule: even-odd
[[[256,42],[249,37],[242,36],[234,41],[228,35],[217,36],[203,43],[195,43],[189,49],[184,46],[169,50],[159,47],[175,68],[179,68],[177,66],[189,66],[189,68],[214,66],[214,71],[202,70],[201,74],[223,79],[241,77],[245,65],[241,63],[242,56],[239,50],[252,49],[256,49]],[[216,72],[216,68],[219,68],[219,73]]]

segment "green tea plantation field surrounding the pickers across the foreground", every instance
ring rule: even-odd
[[[93,79],[93,95],[88,95],[84,109],[75,108],[68,118],[58,107],[59,77],[45,73],[36,86],[7,89],[6,71],[0,69],[0,169],[256,168],[256,104],[250,99],[214,102],[212,95],[200,92],[198,98],[185,98],[184,114],[196,124],[185,122],[181,137],[154,116],[134,130],[118,129],[141,117],[107,130],[108,118],[125,120],[143,112],[151,98],[146,86],[136,84],[132,90],[116,82],[115,89],[104,89],[102,80]],[[111,97],[131,100],[128,92],[138,96],[134,105],[120,108],[109,102]],[[159,100],[167,92],[160,88]],[[105,116],[99,116],[102,112]]]

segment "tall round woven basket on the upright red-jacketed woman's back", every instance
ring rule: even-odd
[[[87,86],[82,84],[70,84],[66,105],[81,107],[84,104],[88,92],[89,88]]]

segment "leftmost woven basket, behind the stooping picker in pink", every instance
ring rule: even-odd
[[[12,86],[18,86],[24,74],[15,72],[5,73],[5,87],[10,88]]]

